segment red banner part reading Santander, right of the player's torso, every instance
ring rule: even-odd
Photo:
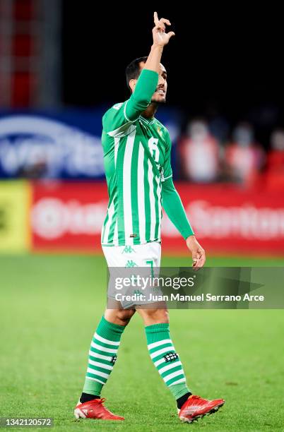
[[[284,254],[284,194],[229,185],[176,186],[208,254]],[[180,242],[167,218],[164,233],[167,250],[174,251]]]

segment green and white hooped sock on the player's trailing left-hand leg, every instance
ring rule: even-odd
[[[102,316],[90,343],[88,368],[83,393],[100,396],[117,359],[124,325],[110,323]]]

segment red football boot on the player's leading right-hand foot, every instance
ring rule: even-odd
[[[181,409],[178,409],[179,419],[187,423],[191,423],[206,414],[213,414],[225,404],[223,399],[207,400],[200,396],[191,395],[184,402]]]

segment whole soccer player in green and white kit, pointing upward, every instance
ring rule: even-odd
[[[102,119],[110,198],[102,227],[102,250],[109,268],[149,263],[160,267],[162,207],[187,242],[194,267],[205,263],[203,248],[172,183],[169,133],[154,117],[167,93],[167,72],[160,63],[162,50],[174,35],[165,32],[170,21],[159,20],[156,12],[154,22],[148,57],[136,59],[126,68],[129,100],[115,104]],[[122,333],[136,311],[145,324],[150,358],[177,400],[179,419],[190,423],[224,404],[223,399],[206,400],[191,394],[170,337],[167,309],[151,306],[135,308],[117,301],[117,308],[106,309],[90,344],[85,385],[74,412],[77,419],[124,420],[104,406],[100,394],[114,368]]]

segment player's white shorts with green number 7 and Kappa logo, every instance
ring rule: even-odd
[[[122,308],[131,308],[135,305],[154,303],[155,300],[152,299],[150,294],[153,294],[153,296],[162,294],[158,287],[150,286],[150,283],[143,283],[140,287],[131,285],[127,289],[124,287],[120,290],[117,289],[117,284],[114,282],[114,280],[117,281],[118,277],[121,279],[121,277],[129,276],[131,272],[141,276],[158,276],[161,259],[160,243],[152,241],[132,246],[102,246],[102,251],[110,270],[110,280],[107,288],[108,300],[119,301]],[[146,279],[144,279],[144,282]],[[114,303],[111,302],[111,304]]]

